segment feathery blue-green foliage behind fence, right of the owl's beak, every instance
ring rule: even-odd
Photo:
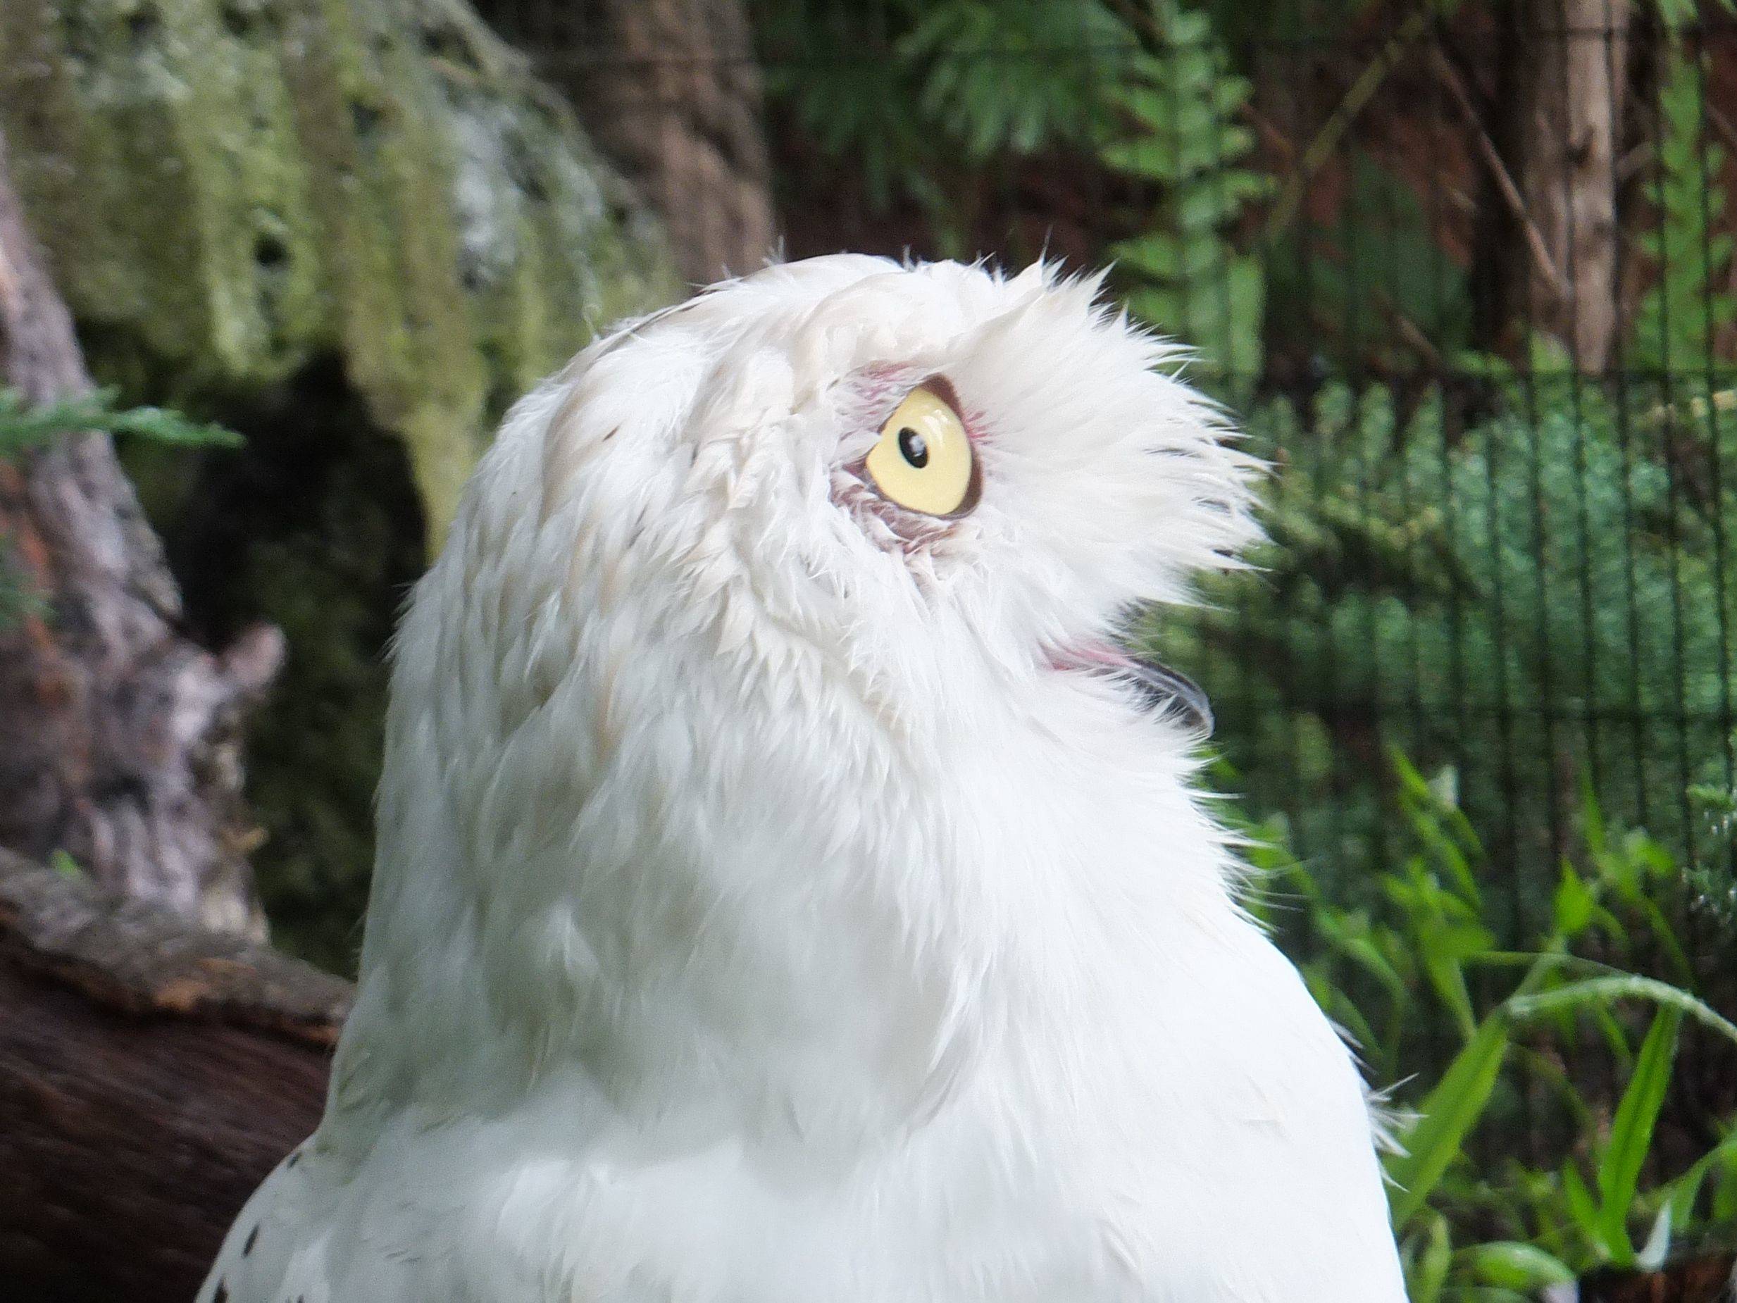
[[[1546,363],[1258,408],[1259,573],[1155,632],[1212,691],[1251,796],[1353,896],[1386,836],[1362,759],[1381,742],[1447,775],[1503,863],[1560,846],[1563,775],[1586,771],[1728,891],[1737,410]],[[1549,890],[1497,907],[1518,926]]]

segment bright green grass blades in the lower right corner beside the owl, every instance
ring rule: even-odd
[[[1336,902],[1284,820],[1252,836],[1270,917],[1285,917],[1275,900],[1301,905],[1291,940],[1310,990],[1370,1075],[1400,1082],[1386,1169],[1412,1300],[1525,1298],[1602,1263],[1657,1263],[1673,1239],[1728,1235],[1737,1117],[1685,1155],[1668,1110],[1688,1029],[1701,1053],[1737,1058],[1737,1025],[1688,985],[1666,923],[1683,909],[1673,858],[1610,832],[1586,796],[1556,910],[1506,950],[1464,813],[1400,756],[1393,789],[1403,844],[1370,905]],[[1522,1110],[1549,1141],[1525,1161],[1508,1140]]]

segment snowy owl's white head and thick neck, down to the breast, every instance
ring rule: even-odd
[[[1216,883],[1199,707],[1117,650],[1254,537],[1256,464],[1178,361],[1096,278],[856,255],[591,346],[405,618],[365,992],[471,956],[499,1023],[691,1074],[780,990],[870,989],[851,1053],[893,1055],[1119,848],[1199,843]]]

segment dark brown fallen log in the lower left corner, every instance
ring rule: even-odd
[[[320,1121],[349,987],[0,853],[0,1298],[186,1303]]]

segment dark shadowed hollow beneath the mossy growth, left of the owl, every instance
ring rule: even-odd
[[[201,415],[247,446],[201,453],[177,500],[149,506],[205,645],[254,620],[288,638],[248,740],[254,867],[276,943],[347,973],[373,858],[384,653],[426,563],[422,509],[403,445],[335,360]]]

